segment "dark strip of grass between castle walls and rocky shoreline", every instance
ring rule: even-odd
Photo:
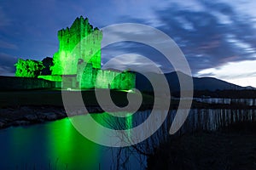
[[[108,89],[97,89],[106,91]],[[84,104],[98,105],[95,95],[95,90],[65,91],[67,94],[81,93],[84,99]],[[111,90],[111,98],[116,105],[125,106],[128,104],[127,91]],[[138,95],[131,93],[131,95]],[[154,97],[148,94],[143,94],[143,105],[154,104]],[[57,89],[36,89],[23,91],[5,91],[0,92],[0,108],[4,107],[19,107],[21,105],[54,105],[62,106],[61,90]]]

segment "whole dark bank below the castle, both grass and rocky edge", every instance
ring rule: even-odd
[[[98,91],[108,91],[108,89],[97,89]],[[74,94],[81,94],[86,110],[89,113],[102,113],[103,110],[97,103],[95,90],[63,91],[67,97]],[[127,91],[111,90],[111,98],[115,105],[120,107],[128,104]],[[136,97],[137,94],[131,93]],[[154,98],[148,94],[143,94],[143,105],[141,110],[150,109],[154,103]],[[80,109],[84,105],[76,105],[76,100],[72,104],[75,108],[72,115],[80,115]],[[110,109],[111,111],[111,109]],[[55,121],[67,117],[64,109],[60,89],[34,89],[23,91],[0,91],[0,128],[10,126],[24,126],[35,123]]]

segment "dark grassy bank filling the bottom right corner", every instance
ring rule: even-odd
[[[148,169],[256,169],[256,122],[170,140],[148,159]]]

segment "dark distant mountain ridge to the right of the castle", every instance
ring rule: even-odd
[[[158,77],[160,77],[160,74],[157,73],[148,73],[150,77],[153,77],[153,80],[155,82],[158,81]],[[166,80],[169,84],[169,87],[172,92],[179,91],[180,85],[178,81],[177,74],[179,74],[181,77],[189,77],[188,75],[177,71],[177,72],[171,72],[166,73]],[[253,87],[241,87],[236,84],[232,84],[230,82],[224,82],[222,80],[219,80],[217,78],[213,77],[193,77],[193,83],[194,83],[194,90],[209,90],[209,91],[215,91],[215,90],[244,90],[244,89],[255,89]],[[136,76],[136,87],[139,90],[142,91],[153,91],[151,83],[148,81],[146,77],[143,75],[137,73]]]

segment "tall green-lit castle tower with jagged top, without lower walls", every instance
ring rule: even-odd
[[[87,38],[86,41],[81,42],[84,37]],[[91,63],[94,68],[101,68],[102,31],[93,28],[87,18],[81,16],[74,20],[70,28],[58,31],[58,39],[60,47],[53,57],[52,75],[77,74],[79,59]]]

